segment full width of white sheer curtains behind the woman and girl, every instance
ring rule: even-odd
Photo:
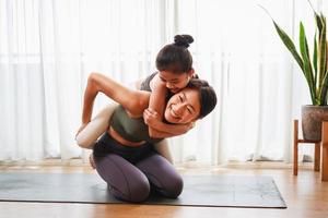
[[[292,119],[309,98],[258,4],[295,38],[300,20],[314,28],[305,0],[0,0],[0,160],[79,157],[87,74],[142,78],[176,34],[194,36],[195,69],[219,101],[171,140],[175,160],[289,160]],[[95,112],[107,102],[101,96]]]

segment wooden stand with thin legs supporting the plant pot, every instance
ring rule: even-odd
[[[315,162],[314,170],[320,171],[320,154],[323,145],[323,160],[321,160],[321,180],[328,181],[328,122],[323,122],[323,134],[321,141],[308,141],[298,138],[298,120],[294,120],[294,165],[293,172],[297,175],[298,171],[298,144],[302,143],[314,143],[315,144]]]

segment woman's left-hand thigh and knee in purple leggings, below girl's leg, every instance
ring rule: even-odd
[[[122,157],[95,154],[94,160],[98,174],[107,182],[115,197],[140,203],[149,196],[150,183],[147,177]]]

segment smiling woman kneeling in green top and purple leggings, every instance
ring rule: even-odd
[[[113,195],[124,201],[143,202],[152,186],[163,196],[177,197],[183,190],[181,177],[153,149],[154,143],[172,134],[159,131],[160,137],[151,137],[143,120],[144,117],[148,123],[161,126],[157,114],[145,110],[151,94],[126,88],[112,78],[92,73],[84,94],[83,123],[90,121],[99,92],[119,104],[108,131],[94,146],[96,170],[108,183]],[[215,105],[213,88],[194,78],[168,99],[164,118],[168,123],[190,123],[207,116]]]

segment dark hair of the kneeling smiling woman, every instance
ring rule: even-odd
[[[195,88],[199,92],[200,113],[198,119],[202,119],[209,114],[216,106],[216,94],[212,86],[207,81],[191,78],[187,85],[189,88]]]

